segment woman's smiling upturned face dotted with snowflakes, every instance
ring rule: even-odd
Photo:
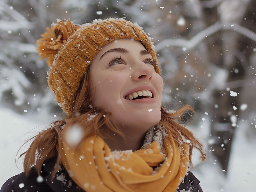
[[[117,39],[103,46],[90,75],[94,107],[111,112],[125,130],[146,132],[160,121],[163,79],[139,41]]]

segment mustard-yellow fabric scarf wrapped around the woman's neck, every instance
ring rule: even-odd
[[[187,144],[179,149],[168,136],[162,146],[164,154],[157,141],[135,152],[110,151],[97,135],[84,139],[76,150],[60,139],[59,145],[69,176],[86,192],[174,192],[189,161]]]

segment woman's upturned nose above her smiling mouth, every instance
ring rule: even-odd
[[[149,64],[140,61],[133,67],[132,80],[134,81],[147,81],[153,77],[153,68]]]

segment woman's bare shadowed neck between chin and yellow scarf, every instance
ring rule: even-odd
[[[145,134],[146,133],[131,134],[131,132],[127,134],[124,132],[124,135],[125,135],[125,140],[124,140],[124,138],[118,135],[117,133],[110,133],[110,135],[112,136],[115,142],[111,139],[105,139],[105,142],[108,144],[111,151],[114,151],[114,150],[136,151],[140,149],[140,147],[143,145]]]

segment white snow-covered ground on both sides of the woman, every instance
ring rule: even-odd
[[[22,116],[10,109],[0,108],[0,186],[11,176],[22,172],[15,165],[15,155],[24,141],[55,120],[57,117],[53,117],[53,114],[41,112]],[[197,130],[200,131],[198,135],[205,137],[208,133],[202,130]],[[204,130],[207,129],[204,127]],[[245,138],[243,126],[240,125],[236,128],[227,177],[224,177],[222,169],[211,154],[208,154],[204,163],[192,169],[201,181],[204,192],[256,191],[256,141],[249,142]],[[18,161],[18,166],[22,168],[21,160]]]

